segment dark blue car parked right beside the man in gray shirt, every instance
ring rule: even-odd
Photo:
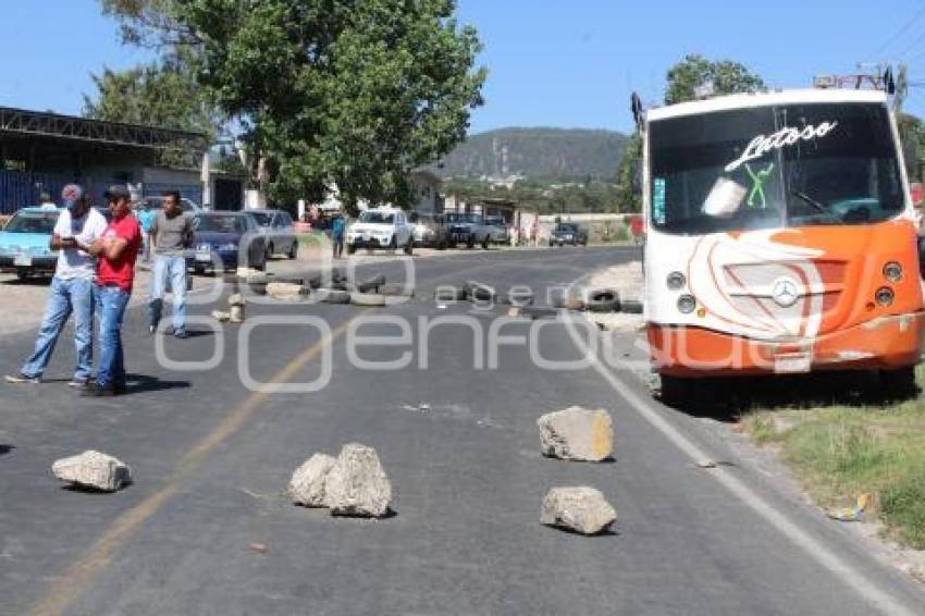
[[[197,273],[238,266],[262,270],[269,254],[267,237],[247,212],[198,212],[193,217],[193,248],[186,252],[186,267]],[[242,251],[246,251],[242,254]]]

